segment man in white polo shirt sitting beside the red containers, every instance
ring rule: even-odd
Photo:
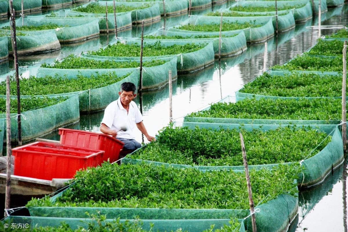
[[[156,140],[155,137],[148,134],[143,123],[143,116],[138,106],[132,101],[136,97],[135,91],[136,87],[133,83],[122,83],[121,89],[118,92],[120,97],[106,107],[100,125],[100,131],[102,133],[111,135],[124,143],[119,158],[123,158],[126,154],[141,147],[141,144],[135,140],[133,133],[134,125],[136,125],[148,141]]]

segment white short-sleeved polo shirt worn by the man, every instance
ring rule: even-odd
[[[104,123],[111,130],[120,130],[122,126],[127,127],[127,131],[120,130],[117,132],[117,138],[135,139],[133,129],[135,123],[143,120],[143,116],[135,102],[129,103],[129,110],[122,106],[121,99],[111,102],[106,106],[104,117],[101,123]]]

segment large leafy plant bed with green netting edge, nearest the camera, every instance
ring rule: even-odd
[[[260,214],[256,217],[259,230],[284,229],[289,218],[291,220],[296,214],[298,200],[293,178],[300,170],[296,165],[281,165],[272,170],[251,170],[255,204],[263,203],[258,206]],[[102,183],[105,178],[99,177],[105,177],[105,173],[109,173],[108,178],[112,177],[108,186]],[[138,177],[137,183],[134,182],[134,176]],[[92,178],[95,180],[93,183],[90,182]],[[221,221],[228,224],[230,217],[241,218],[249,214],[243,173],[201,172],[192,168],[177,169],[144,163],[115,167],[104,163],[100,168],[90,168],[84,173],[78,172],[75,179],[77,182],[60,197],[30,201],[27,206],[31,215],[55,217],[59,214],[69,218],[86,218],[86,210],[89,213],[100,210],[101,214],[107,212],[107,218],[118,215],[121,219],[133,219],[137,215],[142,221],[152,221],[154,229],[162,231],[172,230],[171,224],[174,222],[178,222],[175,226],[182,225],[180,227],[183,231],[188,228],[191,229],[189,231],[201,231],[195,226],[206,222],[205,226],[209,228],[207,222],[217,218],[220,222],[217,220],[215,226],[221,225]],[[231,182],[231,179],[234,181]],[[158,184],[153,184],[153,181]],[[191,197],[187,197],[188,195]],[[280,199],[286,199],[287,202],[284,204]],[[268,210],[272,208],[274,210],[269,214]],[[187,223],[183,224],[185,220]],[[272,223],[264,223],[263,220],[271,220]],[[160,221],[163,227],[158,228],[156,226],[160,225]],[[251,225],[247,225],[248,228],[250,229]]]

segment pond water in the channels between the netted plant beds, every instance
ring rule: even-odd
[[[193,11],[193,14],[206,13],[207,11],[226,8],[231,2]],[[329,9],[322,14],[322,25],[347,25],[348,6]],[[145,33],[155,32],[164,24],[175,25],[187,18],[187,15],[171,17],[164,22],[158,22],[145,27]],[[316,25],[317,16],[309,21],[296,24],[295,29],[271,38],[268,43],[267,67],[283,64],[287,60],[303,53],[313,46],[318,38],[318,31],[308,28]],[[322,35],[331,34],[337,29],[322,30]],[[122,37],[137,37],[141,27],[135,26],[132,30],[120,33]],[[81,51],[95,50],[114,40],[114,35],[108,38],[102,35],[98,39],[89,40],[80,44],[62,46],[61,51],[53,54],[20,57],[20,65],[39,65],[43,62],[52,62],[71,53],[79,54]],[[234,96],[234,92],[245,83],[262,73],[264,57],[264,43],[248,46],[248,49],[236,57],[224,58],[215,61],[214,65],[199,72],[180,75],[173,81],[173,118],[180,118],[192,111],[201,109],[224,96]],[[13,61],[0,64],[0,72],[5,72],[13,66]],[[162,89],[143,93],[144,124],[149,134],[155,135],[158,130],[167,126],[169,122],[169,89],[168,85]],[[139,99],[135,99],[139,102]],[[88,115],[81,115],[80,121],[69,128],[99,131],[103,111]],[[139,131],[138,131],[139,132]],[[47,139],[59,140],[57,131],[43,136]],[[141,133],[136,139],[142,141]],[[146,139],[145,139],[146,140]],[[144,141],[147,142],[147,141]],[[346,165],[336,169],[326,180],[315,187],[299,193],[299,224],[293,225],[291,231],[347,231],[346,212]],[[0,201],[3,196],[0,196]]]

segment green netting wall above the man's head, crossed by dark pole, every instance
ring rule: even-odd
[[[122,60],[125,61],[125,60]],[[145,59],[143,60],[145,61]],[[151,67],[143,67],[143,90],[157,89],[164,86],[168,80],[168,71],[172,70],[173,80],[177,77],[176,58],[168,57],[168,62]],[[124,76],[138,70],[139,67],[125,68],[125,69],[52,69],[43,67],[27,67],[30,74],[36,77],[44,77],[50,75],[52,77],[57,73],[61,77],[76,78],[76,75],[84,75],[90,77],[92,74],[103,74],[108,72],[115,72],[117,76]]]

